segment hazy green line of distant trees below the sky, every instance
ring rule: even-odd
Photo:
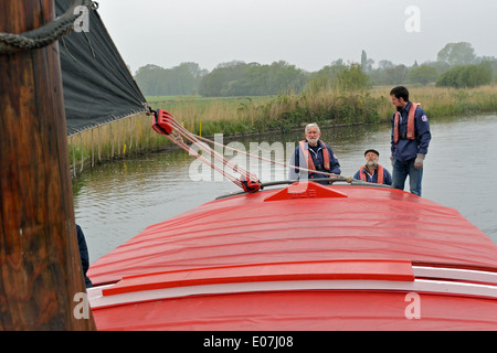
[[[497,81],[497,58],[478,57],[469,43],[448,43],[435,62],[412,66],[374,61],[362,51],[361,62],[337,60],[309,73],[287,62],[271,65],[233,61],[218,65],[212,72],[197,63],[182,63],[172,68],[157,65],[140,67],[135,79],[146,96],[192,95],[204,97],[267,96],[328,88],[357,89],[372,85],[429,85],[476,87]]]

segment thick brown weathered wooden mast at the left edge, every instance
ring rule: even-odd
[[[53,0],[6,0],[0,32],[54,18]],[[95,329],[91,311],[75,314],[86,289],[57,43],[0,54],[0,330]]]

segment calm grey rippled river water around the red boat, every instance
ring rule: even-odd
[[[431,121],[432,142],[424,162],[423,197],[458,210],[497,244],[497,186],[490,173],[497,152],[497,116]],[[352,176],[363,152],[374,148],[391,171],[390,126],[321,129],[337,154],[342,175]],[[262,150],[289,161],[303,131],[216,140],[253,154]],[[263,154],[265,153],[265,154]],[[286,169],[225,151],[228,159],[254,171],[262,182],[286,179]],[[409,189],[409,181],[406,182]],[[182,150],[109,162],[73,181],[76,223],[86,236],[91,261],[139,234],[147,226],[240,189]]]

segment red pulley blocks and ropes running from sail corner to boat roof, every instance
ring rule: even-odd
[[[334,173],[319,172],[319,171],[309,170],[309,169],[302,168],[302,167],[292,165],[288,163],[277,162],[277,161],[274,161],[271,159],[266,159],[266,158],[263,158],[260,156],[254,156],[254,154],[247,153],[245,151],[236,150],[234,148],[224,146],[222,143],[209,140],[207,138],[200,137],[198,135],[194,135],[194,133],[188,131],[181,124],[176,121],[176,119],[168,111],[162,110],[162,109],[159,109],[156,111],[156,110],[152,110],[151,108],[149,108],[149,110],[154,115],[154,124],[152,124],[154,130],[156,130],[158,133],[165,135],[173,143],[176,143],[177,146],[179,146],[180,148],[182,148],[183,150],[189,152],[191,156],[198,158],[203,163],[210,165],[212,169],[214,169],[215,171],[218,171],[219,173],[224,175],[228,180],[232,181],[237,186],[242,188],[244,191],[255,192],[263,188],[260,180],[257,179],[257,175],[252,172],[248,172],[245,169],[241,168],[240,165],[234,164],[233,162],[226,160],[224,158],[224,156],[222,156],[214,149],[210,148],[207,143],[219,146],[224,149],[229,149],[231,151],[236,151],[237,153],[247,156],[250,158],[258,159],[258,160],[266,161],[266,162],[269,162],[273,164],[279,164],[285,168],[295,168],[295,169],[298,169],[302,171],[324,174],[326,176],[331,178],[331,179],[329,179],[330,181],[347,181],[348,183],[351,183],[351,178],[343,178],[343,176],[340,176],[340,175],[337,175]],[[191,149],[184,142],[183,138],[187,139],[188,141],[190,141],[191,143],[195,143],[200,148],[201,151],[211,156],[215,160],[221,161],[224,165],[230,168],[232,171],[240,173],[241,178],[236,179],[234,175],[228,173],[224,169],[221,169],[218,165],[215,165],[215,163],[211,163],[211,161],[209,161],[208,159],[202,157],[200,153],[198,153],[197,151]]]

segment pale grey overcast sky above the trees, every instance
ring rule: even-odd
[[[315,72],[362,50],[412,65],[447,43],[497,57],[496,0],[99,0],[98,13],[135,73],[182,62],[286,61]],[[376,66],[374,65],[374,66]]]

